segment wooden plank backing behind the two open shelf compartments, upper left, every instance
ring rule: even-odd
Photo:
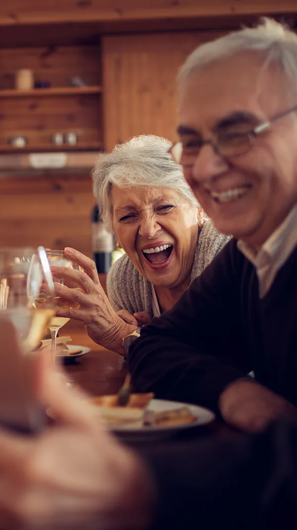
[[[70,76],[79,75],[87,84],[100,84],[101,57],[98,46],[73,46],[0,50],[0,87],[13,86],[14,73],[28,67],[35,80],[66,86]],[[0,150],[10,150],[9,139],[23,135],[26,150],[55,150],[52,134],[72,131],[78,149],[100,149],[103,144],[101,94],[42,95],[0,98]],[[67,149],[67,145],[62,149]]]

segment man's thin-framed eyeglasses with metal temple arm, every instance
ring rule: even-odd
[[[202,147],[206,144],[212,146],[213,151],[224,158],[233,158],[235,156],[244,155],[253,147],[257,136],[269,129],[273,123],[292,112],[296,112],[297,107],[287,110],[282,114],[278,114],[269,121],[260,123],[254,129],[248,132],[236,131],[233,129],[228,131],[221,131],[218,133],[215,140],[200,140],[199,138],[192,138],[185,144],[177,142],[169,149],[174,162],[184,167],[190,167],[195,164],[197,156],[199,156]]]

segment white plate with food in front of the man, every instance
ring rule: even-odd
[[[101,417],[116,435],[130,441],[167,438],[181,429],[205,425],[214,420],[208,409],[177,401],[154,399],[154,394],[131,394],[125,407],[118,396],[91,398],[93,413]]]

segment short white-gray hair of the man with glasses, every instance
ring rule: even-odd
[[[292,88],[297,89],[297,35],[273,19],[263,18],[254,28],[244,28],[196,48],[182,65],[178,84],[182,86],[196,68],[227,58],[240,51],[264,54],[264,66],[278,64]]]

